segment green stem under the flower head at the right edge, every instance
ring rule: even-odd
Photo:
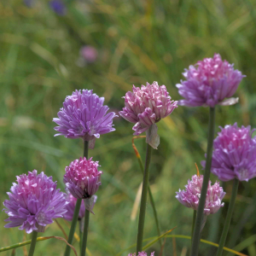
[[[233,210],[234,210],[234,207],[235,207],[238,185],[239,185],[239,180],[235,178],[234,183],[233,183],[232,195],[231,195],[231,198],[230,198],[230,206],[229,206],[229,210],[228,210],[227,217],[226,217],[226,220],[225,220],[222,235],[220,237],[220,241],[219,241],[219,244],[218,244],[218,251],[217,251],[216,256],[221,256],[222,255],[223,247],[224,247],[227,235],[228,235],[228,231],[230,229],[230,222],[231,222],[232,213],[233,213]]]

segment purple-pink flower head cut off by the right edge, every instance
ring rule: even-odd
[[[248,181],[256,177],[256,137],[252,138],[251,126],[220,127],[213,142],[212,173],[222,181],[237,178]],[[201,165],[205,167],[206,161]]]

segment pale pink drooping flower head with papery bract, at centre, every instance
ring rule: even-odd
[[[155,123],[160,119],[164,119],[167,115],[177,108],[177,102],[171,101],[171,96],[166,90],[165,85],[159,86],[157,82],[142,85],[142,88],[133,85],[132,92],[128,91],[125,94],[125,108],[119,114],[127,121],[134,123],[132,130],[134,135],[139,135],[143,131],[151,130],[154,132],[154,145],[157,148],[159,137],[157,136],[157,126]],[[150,131],[149,131],[150,132]],[[150,132],[152,134],[152,132]],[[150,140],[150,135],[147,134],[147,139]]]

